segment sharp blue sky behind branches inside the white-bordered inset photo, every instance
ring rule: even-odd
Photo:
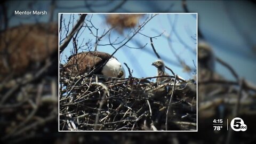
[[[150,16],[150,14],[144,15],[144,17],[140,19],[140,23],[145,21],[148,16]],[[63,18],[65,19],[66,23],[68,22],[69,17],[70,14],[63,14]],[[74,14],[74,18],[74,21],[76,22],[78,14]],[[99,35],[102,34],[104,30],[108,30],[110,28],[110,26],[107,25],[105,22],[106,14],[89,14],[87,15],[86,19],[91,19],[93,25],[96,28],[99,28]],[[175,29],[175,33],[172,28]],[[93,32],[95,33],[95,30]],[[167,39],[166,36],[170,35],[170,32],[171,39]],[[88,39],[91,39],[91,47],[92,50],[94,50],[93,47],[95,38],[90,34],[90,31],[88,29],[81,29],[79,33],[80,34],[78,37],[78,45],[83,45],[85,44],[85,42],[88,41]],[[185,79],[193,78],[193,73],[187,73],[183,71],[183,68],[180,66],[177,58],[172,53],[170,46],[177,53],[181,60],[185,61],[188,66],[195,69],[194,63],[196,65],[197,46],[196,14],[158,14],[147,23],[145,28],[143,28],[140,33],[149,37],[158,36],[159,34],[163,33],[162,36],[153,39],[156,51],[162,57],[166,66],[170,67],[174,71],[174,73],[180,75]],[[181,39],[178,39],[176,34],[178,34]],[[111,41],[115,41],[115,39],[117,39],[118,42],[122,41],[122,39],[127,35],[129,35],[129,29],[125,30],[123,35],[119,34],[117,31],[112,31],[110,39]],[[130,69],[133,70],[133,76],[138,78],[156,75],[156,68],[154,66],[151,66],[151,63],[157,60],[157,57],[153,53],[153,50],[151,48],[150,39],[143,35],[137,34],[130,42],[127,43],[129,47],[140,47],[136,43],[136,41],[138,41],[141,45],[146,45],[145,47],[143,47],[143,49],[131,49],[124,46],[114,55],[121,63],[127,63]],[[180,41],[185,42],[186,46],[189,48],[181,44]],[[103,38],[99,44],[109,44],[108,36]],[[61,55],[61,63],[65,63],[66,57],[69,57],[71,49],[73,49],[73,45],[70,43],[65,51],[63,51],[63,55]],[[98,46],[97,49],[98,51],[107,52],[110,54],[115,51],[115,49],[113,49],[113,47],[111,46]],[[79,50],[78,52],[82,51],[86,50]],[[124,68],[127,77],[129,73],[125,66]],[[171,74],[168,70],[166,70],[166,72]]]

